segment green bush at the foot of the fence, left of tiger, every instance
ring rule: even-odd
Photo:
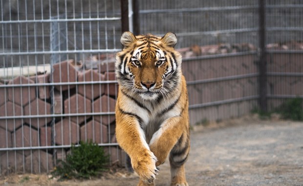
[[[106,170],[108,165],[108,155],[98,144],[80,142],[78,147],[72,145],[71,154],[66,156],[66,160],[59,160],[53,176],[59,176],[59,180],[64,179],[89,179],[96,176],[101,171]]]

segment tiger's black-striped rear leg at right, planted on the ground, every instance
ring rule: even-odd
[[[170,153],[171,186],[188,186],[185,178],[185,167],[190,150],[189,135],[184,134],[178,140]]]

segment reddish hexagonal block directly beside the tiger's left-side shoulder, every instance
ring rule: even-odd
[[[114,112],[115,111],[116,100],[107,96],[103,95],[102,97],[98,98],[96,101],[93,102],[93,108],[95,113],[100,112]],[[104,125],[108,125],[109,123],[115,120],[114,115],[110,116],[94,116],[95,120],[102,122]]]

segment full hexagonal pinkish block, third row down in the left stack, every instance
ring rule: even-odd
[[[35,147],[39,145],[38,131],[23,125],[12,134],[13,147]],[[15,141],[16,140],[16,141]],[[24,151],[25,155],[28,155],[30,151]]]

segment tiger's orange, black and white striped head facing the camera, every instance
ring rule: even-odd
[[[124,32],[123,50],[117,53],[115,64],[120,89],[144,100],[156,100],[171,93],[181,80],[182,57],[173,48],[176,43],[172,32],[163,37]]]

